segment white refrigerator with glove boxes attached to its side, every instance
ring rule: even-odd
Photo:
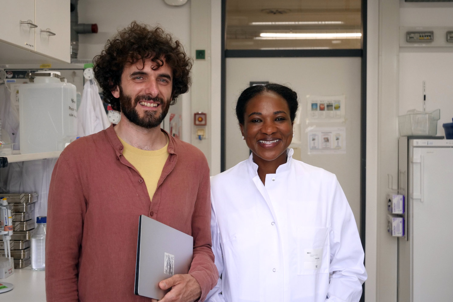
[[[453,139],[399,140],[398,302],[453,301]]]

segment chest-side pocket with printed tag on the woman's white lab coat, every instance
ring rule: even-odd
[[[300,227],[297,240],[297,274],[328,273],[328,228]]]

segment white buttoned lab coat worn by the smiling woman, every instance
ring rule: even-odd
[[[359,301],[364,253],[334,174],[292,159],[265,185],[252,155],[211,178],[219,278],[207,301]]]

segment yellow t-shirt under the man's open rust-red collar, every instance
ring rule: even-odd
[[[120,139],[120,137],[118,137],[118,139]],[[140,173],[145,181],[146,189],[148,189],[149,199],[152,201],[160,174],[162,174],[162,169],[169,156],[167,151],[169,146],[168,138],[165,147],[155,151],[135,148],[122,139],[120,139],[120,142],[124,146],[123,156]]]

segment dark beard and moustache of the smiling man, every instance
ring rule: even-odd
[[[143,117],[140,117],[138,115],[137,109],[135,109],[135,106],[138,104],[140,101],[154,101],[159,103],[160,106],[162,106],[162,113],[156,116],[155,111],[145,111],[145,115]],[[147,95],[138,95],[135,96],[134,102],[132,102],[132,97],[131,96],[126,96],[123,94],[123,91],[121,90],[120,86],[120,108],[121,108],[121,114],[125,116],[130,122],[134,123],[135,125],[146,128],[146,129],[151,129],[154,127],[160,126],[162,121],[164,120],[165,116],[169,112],[169,107],[170,107],[170,102],[164,101],[162,98],[156,96],[152,98],[151,96]]]

